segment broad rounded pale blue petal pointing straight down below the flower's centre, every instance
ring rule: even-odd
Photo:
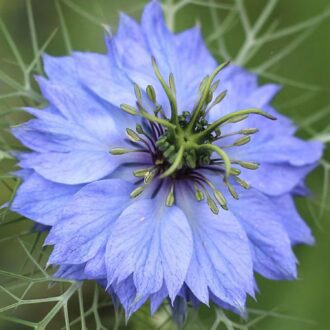
[[[137,296],[161,289],[163,281],[174,300],[189,266],[192,238],[187,219],[164,200],[140,200],[116,222],[108,241],[108,285],[133,274]]]

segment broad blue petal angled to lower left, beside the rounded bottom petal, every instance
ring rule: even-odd
[[[91,183],[64,208],[46,244],[55,244],[51,264],[81,264],[105,246],[111,226],[130,202],[133,185],[119,179]],[[74,240],[73,240],[74,238]]]

